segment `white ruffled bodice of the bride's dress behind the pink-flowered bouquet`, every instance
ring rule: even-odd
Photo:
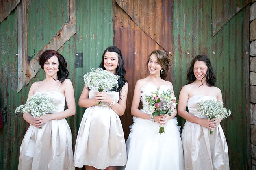
[[[152,112],[148,112],[149,103],[146,101],[145,97],[152,94],[152,92],[156,91],[157,89],[159,89],[159,92],[161,94],[162,92],[170,90],[171,87],[167,85],[160,85],[160,87],[157,87],[156,85],[154,85],[154,83],[150,81],[141,87],[141,101],[143,104],[142,111],[144,113],[148,113],[150,115],[152,114]]]

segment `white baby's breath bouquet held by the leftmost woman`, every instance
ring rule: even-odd
[[[30,96],[25,104],[17,107],[15,112],[30,113],[34,118],[41,118],[56,107],[53,101],[46,93],[35,94]]]

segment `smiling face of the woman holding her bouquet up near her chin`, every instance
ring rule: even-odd
[[[116,52],[106,52],[104,55],[104,67],[106,70],[115,74],[117,66],[119,65],[118,55]]]

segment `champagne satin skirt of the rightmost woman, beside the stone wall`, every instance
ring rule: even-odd
[[[185,170],[229,170],[228,145],[219,124],[213,129],[186,121],[182,130]]]

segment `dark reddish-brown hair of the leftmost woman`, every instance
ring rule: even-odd
[[[57,71],[57,77],[60,83],[63,83],[65,78],[68,78],[69,71],[67,70],[67,62],[61,54],[55,50],[45,50],[38,58],[39,64],[41,68],[44,69],[45,62],[48,61],[48,59],[50,59],[52,56],[56,56],[58,58],[59,69]]]

